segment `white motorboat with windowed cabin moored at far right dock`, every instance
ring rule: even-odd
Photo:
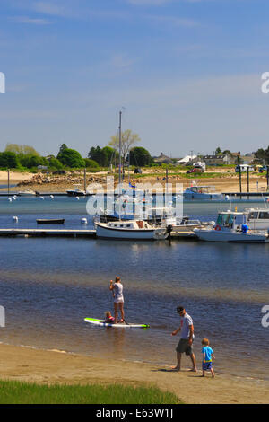
[[[194,229],[194,232],[201,241],[208,242],[269,242],[268,231],[249,230],[246,212],[219,212],[212,229]]]

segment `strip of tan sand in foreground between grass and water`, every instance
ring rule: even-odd
[[[146,363],[110,361],[67,354],[61,351],[37,350],[29,347],[0,345],[1,379],[39,383],[110,383],[157,385],[172,391],[186,403],[268,403],[269,383],[216,374],[202,378],[201,372],[187,370],[184,357],[181,372],[171,372],[170,366]],[[173,362],[170,363],[173,365]],[[185,366],[186,365],[186,366]],[[186,369],[185,369],[186,368]]]

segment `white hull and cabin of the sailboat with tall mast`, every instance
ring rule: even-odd
[[[162,240],[169,235],[166,227],[157,227],[143,220],[95,222],[96,236],[106,239]]]

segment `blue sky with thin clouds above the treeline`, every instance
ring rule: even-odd
[[[269,145],[267,0],[1,0],[0,151],[87,156],[130,128],[152,154]]]

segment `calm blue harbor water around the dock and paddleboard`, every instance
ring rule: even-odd
[[[63,216],[65,227],[82,228],[86,217],[89,228],[86,200],[0,198],[0,227],[35,227],[36,218]],[[211,220],[227,207],[188,202],[184,213]],[[269,379],[269,328],[261,325],[261,308],[269,304],[268,244],[0,238],[0,251],[4,343],[173,365],[178,338],[170,333],[183,303],[194,319],[198,365],[201,339],[208,337],[217,371]],[[151,329],[102,329],[83,321],[112,311],[108,281],[116,275],[125,288],[126,320]]]

